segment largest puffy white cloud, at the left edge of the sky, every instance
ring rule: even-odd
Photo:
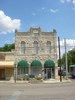
[[[20,28],[20,19],[11,19],[5,15],[3,11],[0,11],[0,34],[7,34],[14,32],[15,29]]]

